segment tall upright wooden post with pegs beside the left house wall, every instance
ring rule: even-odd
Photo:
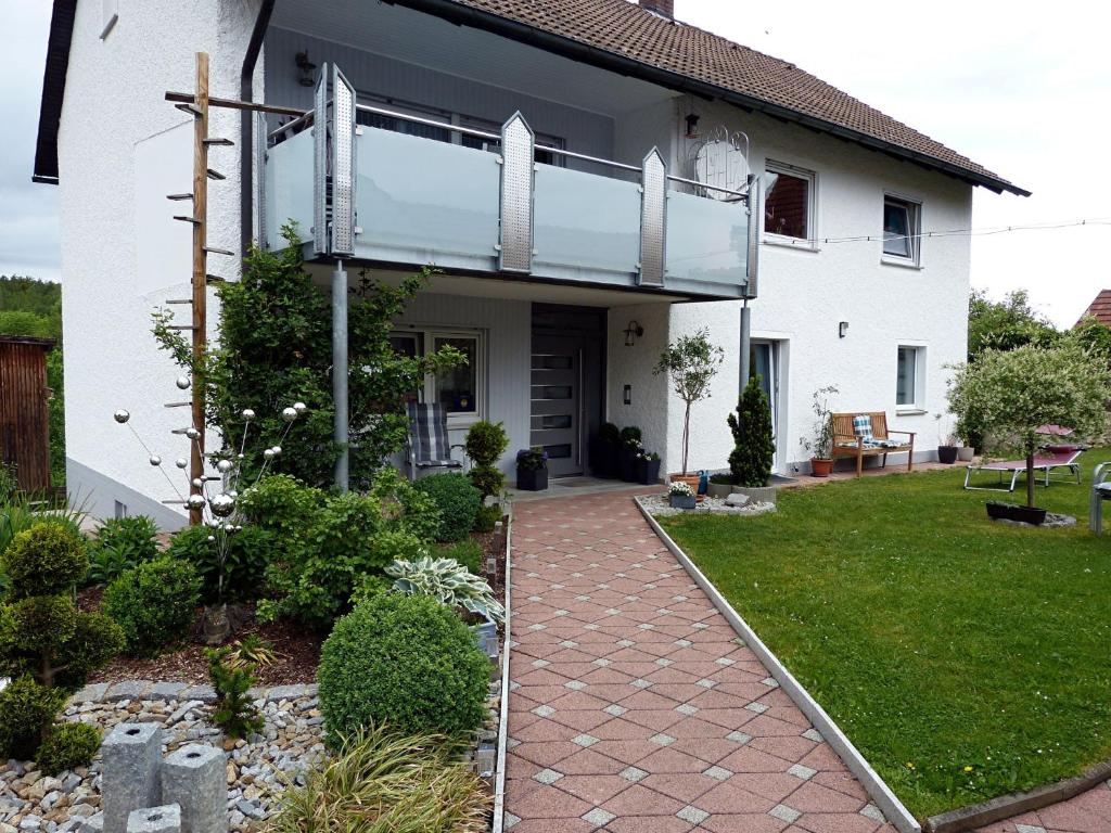
[[[193,363],[203,360],[208,339],[208,121],[209,121],[209,57],[197,53],[197,94],[193,99]],[[191,441],[189,455],[189,480],[204,478],[204,379],[192,374],[192,426],[200,431],[200,438]],[[190,494],[201,494],[200,489],[190,483]],[[201,510],[189,510],[189,523],[201,522]]]

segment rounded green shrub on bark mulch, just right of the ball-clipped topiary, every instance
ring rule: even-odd
[[[123,629],[129,654],[157,656],[189,630],[200,588],[192,564],[162,558],[128,570],[109,584],[101,610]]]

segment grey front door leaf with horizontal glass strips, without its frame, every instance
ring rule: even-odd
[[[532,335],[532,430],[530,444],[548,452],[548,473],[585,471],[583,354],[578,335]]]

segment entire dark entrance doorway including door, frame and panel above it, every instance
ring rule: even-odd
[[[530,444],[553,478],[585,474],[602,413],[605,310],[533,304]]]

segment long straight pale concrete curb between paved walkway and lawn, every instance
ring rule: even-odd
[[[694,564],[693,561],[688,558],[687,553],[677,544],[671,536],[663,531],[659,522],[651,515],[648,510],[641,504],[639,498],[634,498],[633,501],[637,503],[637,508],[640,510],[641,514],[648,521],[648,524],[652,528],[652,531],[659,536],[663,544],[671,551],[671,554],[675,556],[679,563],[682,565],[683,570],[694,580],[702,591],[710,598],[713,606],[725,618],[733,630],[737,631],[738,635],[744,640],[752,652],[760,659],[764,664],[771,675],[775,681],[782,686],[783,691],[794,702],[797,706],[802,711],[804,715],[814,724],[814,727],[821,733],[825,742],[833,749],[834,752],[844,762],[849,771],[860,781],[861,786],[872,799],[875,805],[883,812],[883,814],[899,831],[900,833],[921,833],[922,825],[918,823],[918,820],[910,814],[910,811],[903,806],[902,802],[895,796],[883,779],[880,777],[879,773],[872,769],[871,764],[864,759],[862,754],[852,745],[844,732],[842,732],[833,719],[825,713],[825,710],[818,704],[810,693],[802,688],[794,675],[779,661],[779,658],[771,652],[771,650],[760,640],[748,622],[745,622],[741,615],[733,610],[732,605],[725,600],[713,583],[705,578],[701,570]],[[496,832],[497,833],[497,832]]]

